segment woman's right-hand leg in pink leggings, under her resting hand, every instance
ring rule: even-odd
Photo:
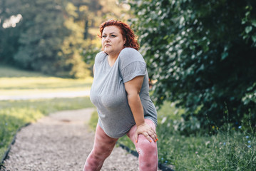
[[[154,130],[155,124],[152,120],[145,119],[145,123],[148,123]],[[137,126],[134,125],[127,133],[130,140],[133,141],[136,150],[138,152],[139,168],[140,171],[156,171],[158,170],[158,147],[155,141],[149,142],[144,135],[138,136],[138,142],[135,142],[135,131]]]

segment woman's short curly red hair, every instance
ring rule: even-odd
[[[124,44],[123,48],[135,48],[138,51],[140,45],[138,44],[138,41],[135,39],[135,34],[133,33],[133,30],[130,28],[130,26],[128,26],[128,24],[116,20],[106,21],[100,26],[101,34],[98,35],[100,38],[102,37],[102,32],[104,28],[107,26],[118,26],[118,28],[121,30],[123,38],[126,38],[126,43]]]

